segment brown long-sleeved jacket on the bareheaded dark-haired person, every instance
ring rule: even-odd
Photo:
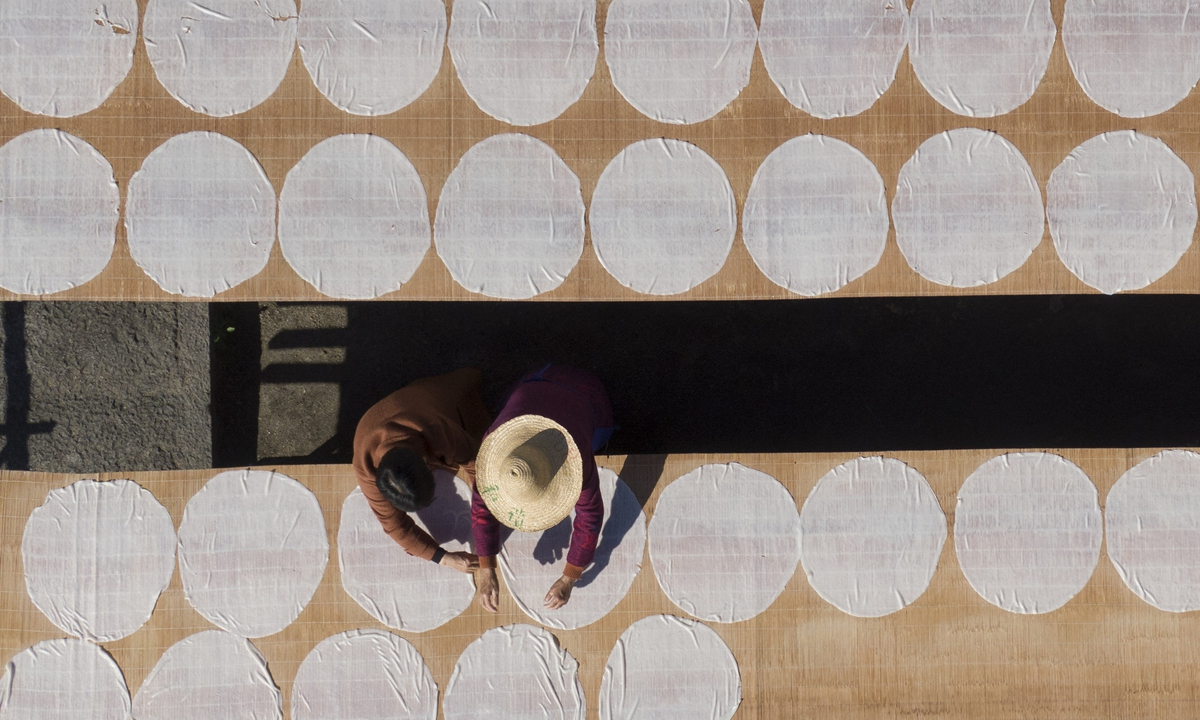
[[[425,457],[430,469],[464,468],[472,486],[475,455],[492,424],[480,396],[482,373],[474,368],[425,378],[401,388],[367,410],[354,433],[354,474],[384,532],[410,556],[432,560],[440,547],[407,512],[394,508],[376,486],[378,462],[406,445]]]

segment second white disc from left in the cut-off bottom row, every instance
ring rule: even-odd
[[[137,720],[283,720],[283,695],[244,637],[204,630],[167,648],[133,698]]]

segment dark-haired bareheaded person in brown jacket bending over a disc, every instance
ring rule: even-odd
[[[371,509],[408,554],[474,572],[479,558],[446,552],[409,512],[433,502],[433,472],[467,470],[475,485],[475,455],[492,421],[474,368],[425,378],[379,401],[354,433],[354,474]]]

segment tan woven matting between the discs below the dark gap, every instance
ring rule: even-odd
[[[1001,451],[888,454],[908,462],[934,487],[953,528],[962,481]],[[1102,504],[1128,468],[1154,450],[1061,450],[1096,482]],[[608,457],[652,515],[661,490],[712,462],[737,461],[778,478],[798,503],[833,467],[856,455],[743,455]],[[284,631],[253,641],[283,691],[286,716],[299,664],[322,640],[354,628],[380,628],[341,587],[338,515],[355,487],[349,467],[277,468],[312,488],[325,514],[332,554],[316,596]],[[215,473],[133,473],[178,526],[187,499]],[[4,482],[0,545],[0,646],[2,656],[61,637],[25,592],[20,538],[25,518],[50,488],[79,476],[0,473]],[[952,533],[953,535],[953,533]],[[425,634],[400,634],[424,655],[444,692],[455,661],[484,631],[532,623],[506,590],[498,616],[472,605],[449,624]],[[600,678],[608,653],[631,623],[654,613],[684,613],[659,589],[649,557],[625,599],[600,622],[554,630],[580,661],[588,716],[596,718]],[[989,605],[959,570],[953,539],[929,589],[894,614],[863,619],[841,613],[809,587],[798,569],[775,604],[758,617],[710,625],[730,646],[742,673],[742,720],[782,718],[990,718],[1096,719],[1194,718],[1200,701],[1200,613],[1174,614],[1139,600],[1102,553],[1084,590],[1058,611],[1019,616]],[[106,643],[132,692],[174,642],[211,629],[184,598],[176,571],[154,617],[139,631]]]

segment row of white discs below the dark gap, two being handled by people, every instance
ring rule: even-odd
[[[630,490],[601,470],[604,526],[594,563],[558,611],[541,596],[558,577],[572,518],[545,533],[515,533],[500,568],[514,601],[534,620],[577,629],[606,616],[641,569],[649,538],[654,574],[682,610],[734,623],[764,612],[803,563],[814,589],[856,617],[880,617],[929,586],[947,536],[924,476],[890,458],[864,457],[822,478],[797,511],[774,478],[712,464],[668,485],[647,529]],[[1154,607],[1200,610],[1200,455],[1165,451],[1130,469],[1108,497],[1108,552],[1129,588]],[[470,547],[470,491],[438,474],[437,499],[416,522],[444,547]],[[1002,455],[959,493],[959,564],[989,602],[1050,612],[1088,581],[1104,533],[1096,487],[1073,463],[1044,452]],[[187,504],[178,535],[167,510],[128,480],[80,481],[52,491],[25,526],[25,581],[34,604],[64,631],[126,637],[149,618],[175,566],[192,606],[242,637],[293,623],[325,574],[329,541],[316,496],[262,470],[212,478]],[[361,492],[347,497],[338,529],[342,584],[372,617],[422,632],[457,617],[474,584],[406,554],[384,534]]]

